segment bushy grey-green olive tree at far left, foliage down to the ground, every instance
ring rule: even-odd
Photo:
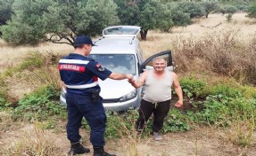
[[[45,21],[42,19],[50,1],[16,0],[12,5],[11,20],[1,27],[3,39],[13,44],[37,44],[45,38]],[[53,25],[53,24],[52,24]]]

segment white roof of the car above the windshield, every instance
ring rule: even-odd
[[[136,54],[138,39],[136,37],[102,37],[94,42],[91,54]]]

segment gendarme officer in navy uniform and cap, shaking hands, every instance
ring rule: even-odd
[[[90,152],[79,143],[79,128],[82,118],[85,117],[91,129],[90,141],[94,146],[94,156],[115,156],[103,149],[106,114],[99,96],[98,78],[132,80],[133,76],[112,73],[94,59],[87,58],[94,45],[88,36],[78,36],[73,43],[74,52],[59,61],[61,79],[67,90],[67,136],[71,144],[69,153],[72,155]]]

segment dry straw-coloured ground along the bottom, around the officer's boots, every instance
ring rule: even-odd
[[[15,140],[26,139],[35,133],[32,125],[25,125],[21,129],[7,130],[0,136],[0,148],[13,144]],[[88,133],[81,129],[83,144],[93,149],[88,141]],[[67,155],[70,144],[65,132],[44,130],[44,139],[53,142],[58,148],[59,155]],[[252,136],[255,141],[255,136]],[[256,144],[247,148],[240,148],[225,140],[222,131],[211,128],[196,128],[187,132],[168,133],[163,140],[154,141],[152,137],[107,139],[105,150],[118,156],[255,156]],[[136,147],[136,148],[134,148]],[[82,154],[92,156],[93,152]]]

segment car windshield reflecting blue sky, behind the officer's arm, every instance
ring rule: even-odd
[[[111,72],[136,74],[135,57],[132,54],[90,54],[89,58],[95,59]]]

